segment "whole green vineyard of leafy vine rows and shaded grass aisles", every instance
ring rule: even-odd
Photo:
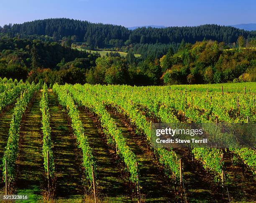
[[[0,195],[24,202],[254,202],[251,148],[153,148],[152,123],[255,123],[256,83],[0,79]]]

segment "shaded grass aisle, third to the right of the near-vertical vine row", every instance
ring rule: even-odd
[[[169,184],[164,176],[163,170],[154,157],[148,152],[146,139],[137,135],[125,118],[115,115],[109,111],[111,117],[117,122],[126,142],[135,153],[139,162],[141,194],[145,202],[177,202],[178,197],[174,195],[173,185]]]

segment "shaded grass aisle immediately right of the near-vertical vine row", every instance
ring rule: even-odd
[[[57,97],[52,92],[49,92],[49,108],[56,198],[83,198],[82,152],[77,147],[68,114],[58,106]]]

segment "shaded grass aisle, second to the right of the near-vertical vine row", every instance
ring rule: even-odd
[[[125,187],[125,180],[120,173],[116,162],[115,153],[107,145],[107,140],[100,130],[100,126],[94,122],[92,114],[80,108],[80,119],[84,126],[85,134],[92,147],[97,164],[97,190],[100,196],[108,197],[108,200],[118,199],[119,202],[127,202],[131,191]]]

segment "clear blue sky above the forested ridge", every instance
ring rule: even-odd
[[[126,27],[256,23],[256,0],[0,0],[0,25],[73,18]]]

